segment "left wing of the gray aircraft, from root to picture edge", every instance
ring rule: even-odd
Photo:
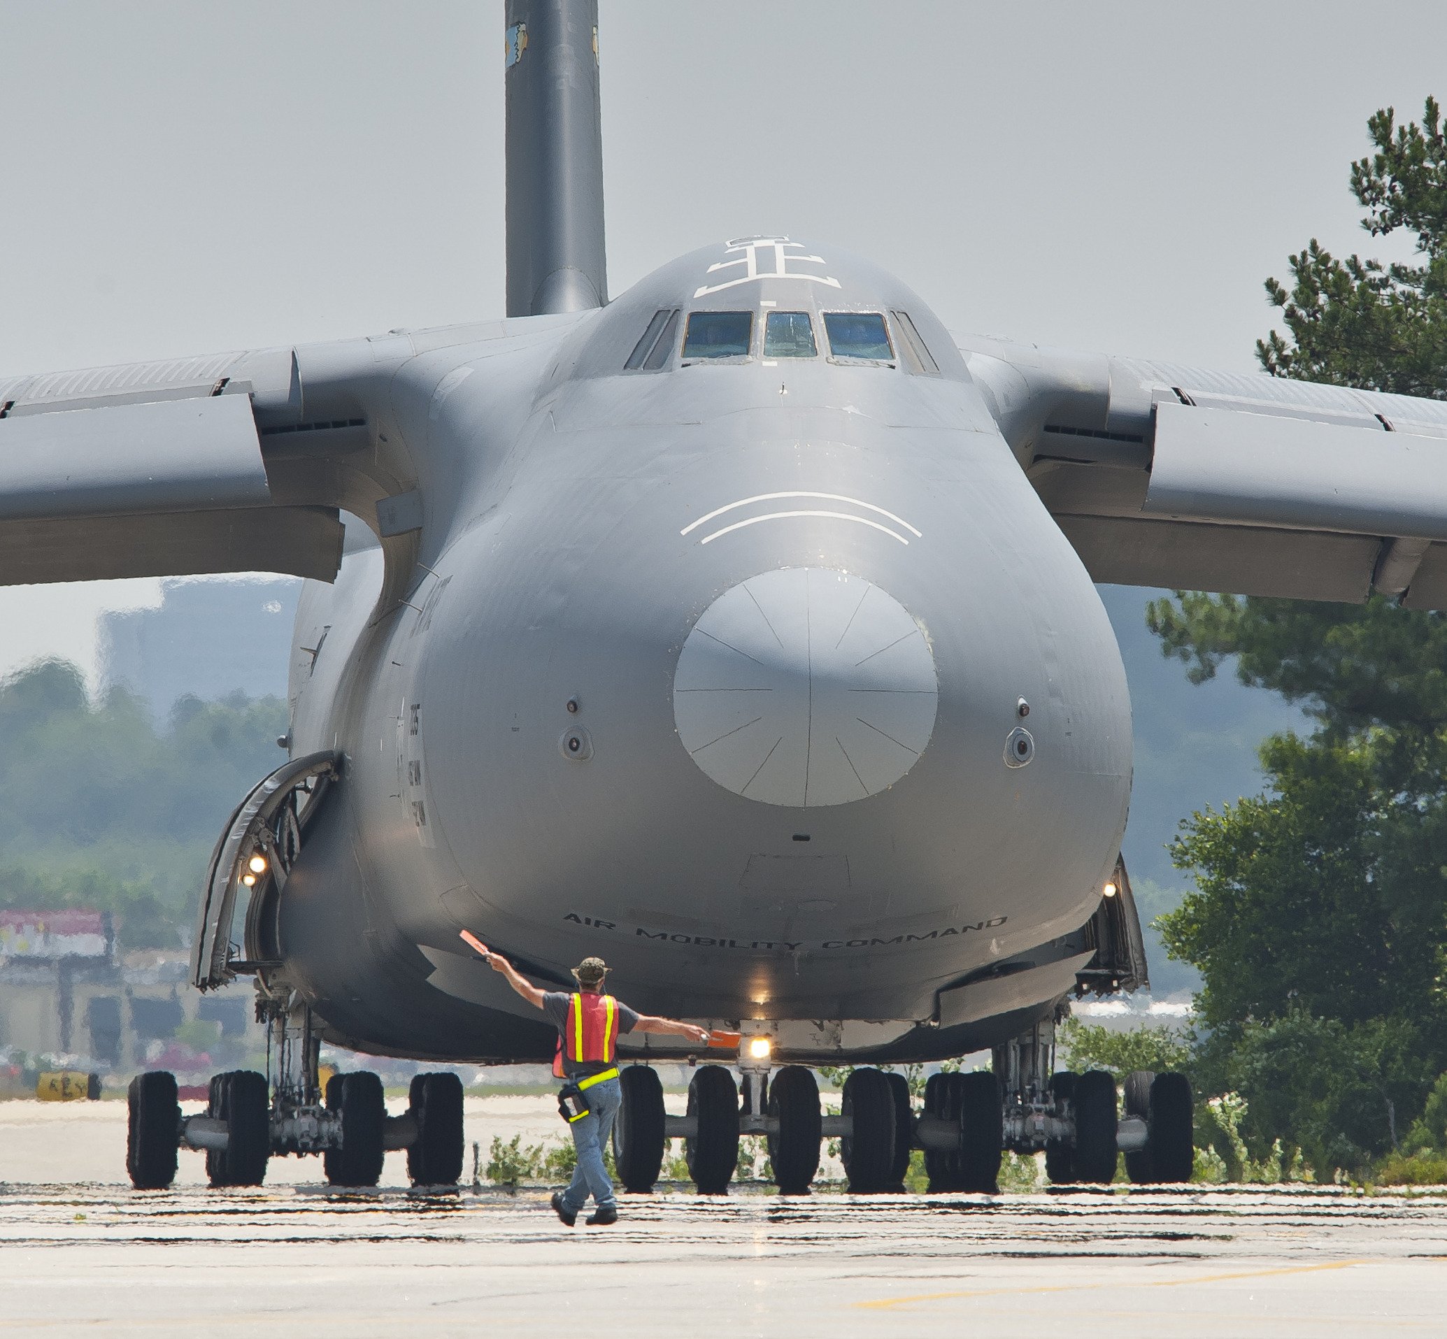
[[[404,571],[392,560],[415,545],[423,506],[394,375],[417,354],[491,351],[511,334],[493,321],[0,379],[0,586],[229,571],[330,581],[339,510],[376,529]]]

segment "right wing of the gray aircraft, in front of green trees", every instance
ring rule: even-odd
[[[955,338],[1097,581],[1447,609],[1447,402]]]

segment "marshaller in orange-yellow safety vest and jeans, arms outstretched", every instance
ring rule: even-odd
[[[501,972],[508,985],[530,1005],[535,1005],[557,1024],[559,1050],[553,1073],[566,1079],[563,1099],[567,1121],[577,1150],[577,1170],[567,1190],[554,1193],[553,1209],[569,1228],[593,1196],[596,1205],[589,1226],[618,1222],[618,1202],[614,1183],[603,1167],[603,1147],[614,1129],[614,1118],[622,1100],[615,1051],[619,1032],[674,1032],[690,1041],[708,1041],[709,1034],[692,1022],[653,1018],[638,1014],[612,995],[603,993],[608,967],[601,957],[585,957],[574,969],[577,991],[540,991],[524,979],[505,957],[488,954],[493,972]]]

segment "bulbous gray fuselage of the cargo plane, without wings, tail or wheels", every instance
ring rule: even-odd
[[[379,617],[359,545],[292,662],[292,750],[346,774],[282,947],[336,1035],[537,1056],[463,927],[540,979],[601,954],[653,1012],[923,1022],[1098,905],[1130,706],[1094,586],[920,299],[770,247],[386,385],[427,442],[423,567]],[[664,364],[625,370],[671,309]],[[748,353],[680,359],[700,309],[752,312]],[[771,311],[818,354],[764,357]],[[893,357],[832,357],[823,312],[886,314]]]

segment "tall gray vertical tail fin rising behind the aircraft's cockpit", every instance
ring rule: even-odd
[[[598,0],[508,0],[508,315],[608,301]]]

